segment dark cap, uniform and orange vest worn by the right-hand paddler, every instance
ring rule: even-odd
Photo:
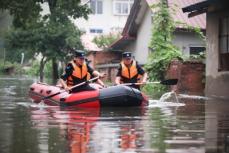
[[[125,52],[122,54],[123,58],[131,58],[130,52]],[[118,68],[118,73],[116,76],[121,77],[122,83],[137,83],[145,71],[135,60],[132,60],[131,66],[127,67],[123,62],[120,63]],[[132,87],[139,89],[138,85],[132,85]]]

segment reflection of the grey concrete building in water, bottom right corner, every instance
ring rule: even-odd
[[[205,107],[206,153],[229,153],[228,101],[211,100]]]

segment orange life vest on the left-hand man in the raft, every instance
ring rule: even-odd
[[[68,77],[67,79],[67,85],[68,86],[73,86],[73,77],[78,78],[78,79],[83,79],[86,76],[88,76],[88,69],[87,69],[87,64],[84,63],[82,65],[82,68],[80,68],[77,64],[74,63],[74,61],[70,62],[73,66],[73,71],[72,71],[72,75]],[[87,77],[86,79],[88,80],[89,77]]]

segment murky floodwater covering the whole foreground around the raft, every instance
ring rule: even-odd
[[[0,78],[0,153],[229,152],[228,100],[169,93],[146,108],[67,110],[33,104],[33,81]]]

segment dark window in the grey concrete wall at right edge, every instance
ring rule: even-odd
[[[229,17],[220,19],[219,28],[219,70],[229,71]]]

